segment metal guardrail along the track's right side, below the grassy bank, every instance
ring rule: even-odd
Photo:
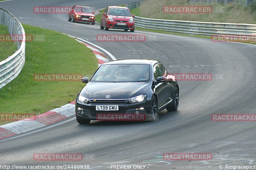
[[[129,6],[134,7],[134,6],[137,6],[138,4],[139,2],[134,2],[131,4],[127,4],[126,7],[128,8]],[[256,35],[255,24],[180,21],[180,20],[142,18],[137,16],[133,17],[133,19],[135,21],[135,26],[140,28],[171,31],[176,33],[197,34],[197,35],[206,35],[206,36],[211,36],[213,34]]]

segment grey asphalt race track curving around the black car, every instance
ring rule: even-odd
[[[13,0],[0,2],[0,7],[21,23],[82,38],[108,50],[117,59],[139,56],[156,59],[164,63],[170,73],[211,73],[212,80],[179,81],[178,111],[164,110],[156,122],[92,121],[89,125],[80,125],[74,117],[69,117],[70,121],[64,119],[52,128],[2,139],[1,165],[89,165],[90,169],[110,169],[111,165],[142,165],[143,168],[145,165],[149,170],[217,170],[220,165],[222,169],[225,165],[256,165],[255,121],[211,120],[212,114],[256,113],[256,46],[137,31],[136,28],[132,34],[144,34],[146,41],[98,42],[98,34],[131,32],[105,31],[96,24],[68,22],[68,14],[33,12],[34,6],[81,4],[96,10],[134,1]],[[163,160],[166,152],[211,153],[212,160]],[[35,161],[35,153],[82,153],[83,160]]]

